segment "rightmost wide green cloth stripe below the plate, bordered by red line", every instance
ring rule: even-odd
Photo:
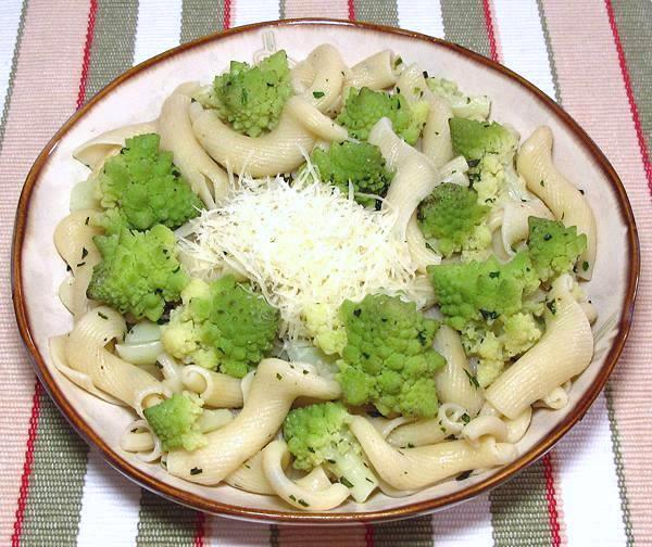
[[[491,492],[491,524],[497,547],[551,545],[546,479],[541,461]]]

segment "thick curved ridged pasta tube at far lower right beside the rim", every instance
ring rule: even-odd
[[[485,392],[487,400],[504,416],[516,418],[591,362],[591,326],[575,301],[572,287],[568,275],[554,281],[551,295],[555,314],[548,314],[546,333]]]

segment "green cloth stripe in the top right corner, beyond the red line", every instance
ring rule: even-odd
[[[629,69],[631,90],[648,150],[652,149],[652,4],[650,0],[613,0],[614,16]],[[651,150],[652,151],[652,150]]]

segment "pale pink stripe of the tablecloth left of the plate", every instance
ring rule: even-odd
[[[13,308],[9,263],[14,215],[32,163],[74,112],[88,20],[87,1],[30,0],[0,151],[0,545],[10,545],[23,473],[34,372]],[[62,31],[65,29],[65,31]]]

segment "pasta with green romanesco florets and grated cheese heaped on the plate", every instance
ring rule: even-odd
[[[591,362],[553,136],[391,51],[265,51],[82,144],[54,366],[170,474],[326,511],[517,457]]]

